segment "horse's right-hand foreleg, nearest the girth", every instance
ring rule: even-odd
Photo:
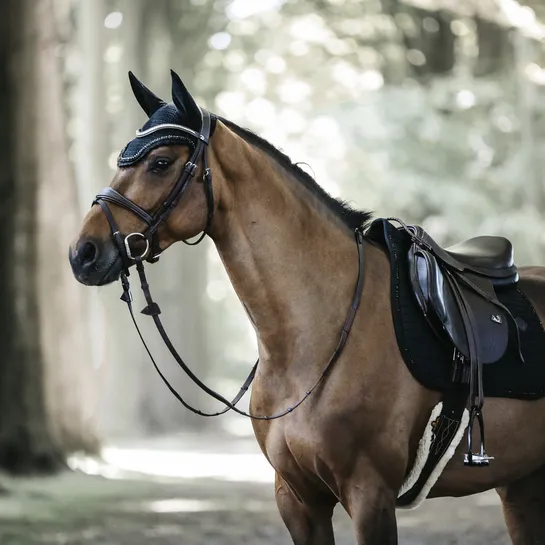
[[[396,494],[383,484],[358,479],[343,499],[358,545],[397,545]]]

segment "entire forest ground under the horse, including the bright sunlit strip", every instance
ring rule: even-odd
[[[47,479],[0,477],[1,545],[289,545],[272,473],[250,442],[105,449],[104,462]],[[188,446],[189,445],[189,446]],[[398,512],[401,545],[509,545],[494,492]],[[354,545],[338,509],[337,545]]]

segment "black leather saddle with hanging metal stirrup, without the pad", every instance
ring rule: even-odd
[[[493,458],[484,449],[482,366],[498,361],[508,346],[507,320],[513,317],[497,292],[518,281],[512,244],[504,237],[480,236],[442,248],[421,227],[399,223],[412,241],[407,258],[418,305],[432,330],[452,347],[453,383],[469,385],[464,463],[486,466]],[[478,454],[472,452],[475,419],[481,433]]]

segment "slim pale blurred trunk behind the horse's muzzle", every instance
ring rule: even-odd
[[[139,1],[133,3],[131,16],[133,12],[138,13]],[[79,138],[76,160],[80,193],[84,195],[82,217],[88,212],[94,196],[102,187],[109,185],[113,176],[108,167],[108,157],[112,151],[110,134],[115,133],[118,124],[110,124],[105,107],[109,67],[104,62],[104,53],[108,46],[108,33],[112,32],[104,27],[104,18],[108,13],[106,4],[105,0],[80,0],[78,6],[78,40],[84,67],[78,77],[78,107],[73,115],[80,117],[85,127]],[[124,5],[122,7],[125,8]],[[125,9],[122,12],[124,30],[131,25],[129,14]],[[135,32],[137,34],[137,29]],[[115,134],[112,139],[115,140]],[[135,432],[138,435],[135,398],[141,381],[134,361],[138,358],[140,347],[131,342],[132,335],[129,337],[129,334],[133,334],[132,324],[125,315],[125,305],[119,301],[119,286],[87,290],[86,295],[92,338],[100,340],[100,346],[95,346],[93,354],[100,374],[99,429],[105,439],[133,435]],[[121,391],[125,393],[120,395]]]

